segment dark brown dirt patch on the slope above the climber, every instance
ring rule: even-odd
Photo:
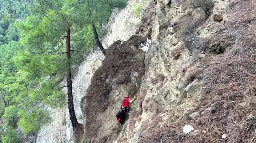
[[[135,85],[131,84],[130,75],[132,70],[139,73],[139,79],[144,75],[143,60],[145,59],[145,52],[138,48],[141,43],[146,42],[146,38],[133,35],[122,45],[121,42],[119,40],[109,46],[107,55],[102,61],[102,66],[94,73],[88,93],[81,101],[83,103],[86,100],[86,106],[82,106],[82,110],[86,114],[85,136],[89,140],[95,136],[101,126],[101,123],[95,123],[97,116],[110,105],[109,94],[113,89],[112,86],[120,84],[133,86],[128,89],[127,93],[134,95],[140,85],[136,88]]]

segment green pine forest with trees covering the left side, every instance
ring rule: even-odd
[[[21,142],[18,126],[35,136],[51,121],[49,107],[68,106],[75,129],[72,67],[97,45],[105,55],[103,25],[114,8],[125,6],[126,0],[0,0],[2,143]]]

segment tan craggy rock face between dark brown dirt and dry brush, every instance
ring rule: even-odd
[[[205,96],[209,94],[205,90],[209,86],[207,81],[211,80],[206,75],[209,69],[215,70],[212,64],[220,64],[210,62],[211,57],[222,57],[235,44],[227,24],[234,4],[229,0],[149,0],[136,34],[145,39],[149,37],[153,42],[145,55],[145,75],[136,90],[138,100],[134,110],[122,128],[116,125],[118,103],[128,87],[110,85],[111,92],[105,98],[108,105],[102,112],[90,110],[95,113],[95,120],[85,122],[85,139],[93,143],[219,142],[221,137],[213,133],[221,133],[214,125],[205,126],[203,121],[211,122],[226,114],[214,114],[220,105],[212,104],[221,101],[211,104],[212,97]],[[111,80],[118,79],[111,77]],[[94,98],[81,102],[86,118],[92,116],[86,106],[91,101]],[[192,133],[186,135],[189,132]],[[206,132],[206,137],[200,136]]]

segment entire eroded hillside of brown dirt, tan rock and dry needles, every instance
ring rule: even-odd
[[[251,0],[149,0],[140,37],[110,46],[80,103],[84,141],[254,142],[254,11]],[[138,99],[121,128],[115,115],[125,94]]]

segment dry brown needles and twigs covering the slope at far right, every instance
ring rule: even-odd
[[[194,121],[181,119],[164,127],[152,128],[141,142],[147,143],[255,143],[256,142],[256,2],[233,0],[228,9],[229,22],[222,26],[237,42],[223,54],[203,62],[204,95],[197,108],[216,107]],[[241,106],[245,103],[245,106]],[[240,104],[240,105],[239,105]],[[249,115],[252,115],[251,117]],[[206,134],[189,136],[184,125]],[[222,134],[227,138],[222,139]]]

